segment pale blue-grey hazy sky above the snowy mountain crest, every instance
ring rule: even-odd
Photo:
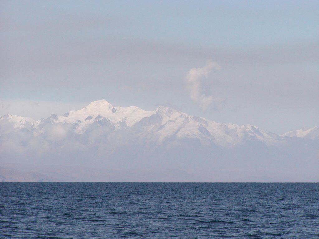
[[[319,126],[319,1],[0,2],[0,115],[106,99],[283,134]]]

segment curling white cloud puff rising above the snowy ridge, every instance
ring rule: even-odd
[[[186,89],[189,91],[189,96],[203,112],[208,108],[218,108],[225,102],[223,98],[213,97],[203,86],[202,78],[207,77],[213,69],[220,70],[219,64],[207,61],[202,68],[190,69],[186,77]]]

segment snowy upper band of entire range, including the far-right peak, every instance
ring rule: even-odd
[[[114,107],[105,99],[91,102],[80,110],[72,110],[62,116],[52,114],[48,119],[33,120],[29,117],[21,117],[14,115],[5,115],[0,120],[8,119],[13,128],[37,129],[44,122],[50,121],[52,124],[72,124],[77,134],[83,134],[94,123],[101,126],[100,123],[106,122],[112,124],[115,129],[119,129],[124,125],[133,127],[135,124],[143,120],[144,127],[146,125],[149,130],[155,125],[160,125],[158,129],[160,133],[159,141],[166,137],[176,134],[179,137],[190,138],[209,138],[214,143],[221,146],[236,145],[240,143],[243,137],[254,137],[256,140],[263,141],[265,144],[271,144],[284,137],[306,137],[311,130],[319,132],[318,127],[308,129],[308,133],[301,135],[300,130],[294,130],[282,135],[270,133],[253,125],[236,125],[232,123],[217,123],[202,117],[188,115],[183,112],[176,111],[167,106],[159,106],[154,111],[145,111],[137,106],[130,107]],[[313,138],[319,137],[312,134]]]

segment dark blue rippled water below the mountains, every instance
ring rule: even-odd
[[[319,183],[0,183],[0,238],[319,238]]]

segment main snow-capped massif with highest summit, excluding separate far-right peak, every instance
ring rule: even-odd
[[[83,109],[70,111],[63,116],[52,114],[50,118],[39,121],[5,115],[0,122],[2,126],[10,125],[14,130],[30,130],[34,135],[45,134],[48,125],[60,126],[60,131],[67,128],[79,135],[92,132],[96,127],[108,128],[112,132],[126,129],[137,135],[152,134],[158,144],[172,137],[211,141],[220,146],[234,146],[244,139],[261,141],[267,145],[280,140],[278,135],[252,125],[220,124],[164,106],[154,111],[145,111],[136,106],[114,107],[106,100],[93,101]]]

